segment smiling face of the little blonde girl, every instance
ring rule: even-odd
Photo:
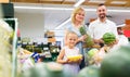
[[[75,35],[75,34],[69,34],[69,35],[67,36],[68,47],[75,47],[75,44],[76,44],[76,42],[77,42],[77,39],[78,39],[77,35]]]

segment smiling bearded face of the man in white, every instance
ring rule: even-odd
[[[98,16],[100,18],[105,18],[106,17],[106,7],[105,5],[101,5],[98,8]]]

